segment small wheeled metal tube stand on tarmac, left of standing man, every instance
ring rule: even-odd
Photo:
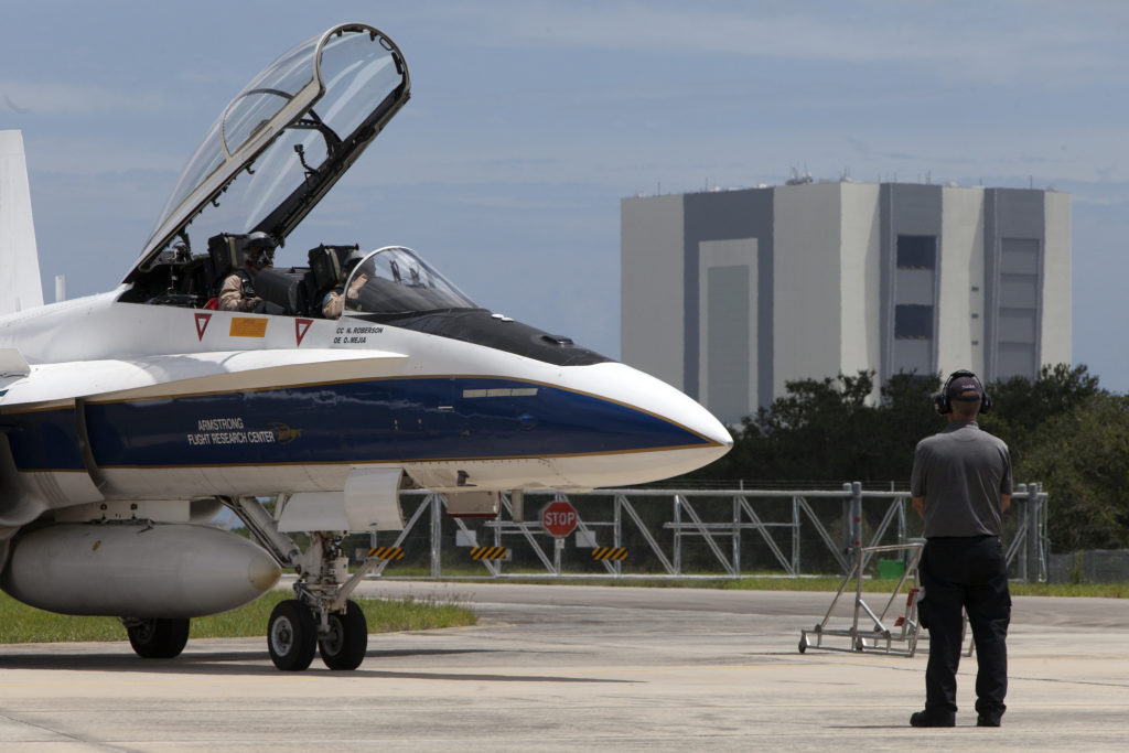
[[[885,654],[903,654],[912,657],[917,651],[917,639],[920,627],[918,625],[917,603],[921,589],[917,583],[917,567],[921,560],[924,543],[914,542],[910,544],[890,544],[885,546],[859,546],[856,551],[855,564],[851,567],[843,583],[839,586],[839,592],[831,601],[828,613],[823,615],[823,621],[811,630],[799,632],[799,653],[803,654],[808,648],[822,648],[829,651],[883,651]],[[875,614],[863,601],[863,572],[873,554],[879,552],[907,552],[905,571],[894,586],[894,592],[890,595],[881,614]],[[887,614],[894,602],[901,594],[902,586],[907,579],[910,581],[909,595],[905,598],[905,613],[898,615],[893,624],[886,624]],[[846,630],[831,630],[828,623],[831,621],[831,613],[834,612],[839,597],[847,590],[847,586],[855,581],[855,616],[851,627]],[[869,627],[859,627],[859,613],[865,612],[870,620]],[[824,646],[824,637],[847,638],[846,647]]]

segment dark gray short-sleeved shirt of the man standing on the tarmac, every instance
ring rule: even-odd
[[[952,421],[918,443],[910,490],[925,497],[925,537],[998,536],[1000,494],[1012,493],[1007,445],[975,421]]]

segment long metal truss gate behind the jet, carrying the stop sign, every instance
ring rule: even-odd
[[[577,511],[569,536],[552,536],[540,510],[568,501]],[[370,548],[387,554],[379,576],[423,564],[430,577],[669,577],[842,575],[859,546],[904,544],[921,522],[904,491],[869,491],[858,482],[834,490],[605,489],[585,493],[526,491],[524,515],[502,496],[493,518],[449,518],[446,498],[404,492],[410,516],[401,532],[374,534]],[[1047,494],[1019,484],[1001,536],[1013,578],[1048,578]],[[413,507],[414,506],[414,507]],[[907,510],[907,508],[910,508]],[[362,550],[364,551],[364,550]],[[877,560],[898,572],[899,562]]]

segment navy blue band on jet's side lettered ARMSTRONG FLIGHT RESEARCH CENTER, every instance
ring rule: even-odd
[[[511,379],[428,377],[90,403],[98,466],[411,462],[706,446],[664,419]]]

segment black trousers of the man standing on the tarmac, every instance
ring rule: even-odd
[[[961,662],[961,608],[977,645],[977,711],[1003,713],[1007,695],[1007,589],[1004,548],[995,536],[936,537],[921,554],[921,585],[929,629],[925,710],[956,712],[956,668]]]

